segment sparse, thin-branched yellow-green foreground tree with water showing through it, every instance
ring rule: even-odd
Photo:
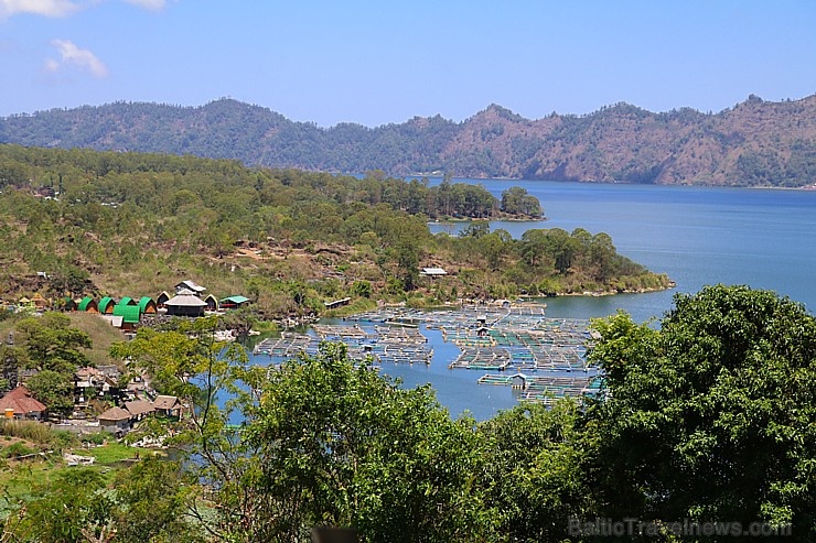
[[[172,332],[141,328],[133,340],[111,346],[111,356],[147,371],[164,392],[179,397],[189,408],[179,422],[152,420],[153,424],[141,430],[174,447],[186,474],[182,477],[167,466],[146,468],[149,473],[143,475],[152,482],[143,491],[126,492],[122,499],[128,507],[146,507],[144,492],[162,493],[154,485],[161,487],[160,471],[170,470],[168,478],[186,482],[184,492],[171,495],[172,502],[183,504],[201,530],[224,539],[254,533],[253,522],[261,514],[258,508],[262,509],[270,498],[259,495],[254,484],[261,460],[257,450],[240,437],[240,428],[230,424],[233,416],[238,421],[251,417],[266,368],[247,368],[246,352],[239,346],[215,340],[217,328],[217,317],[182,322]],[[162,517],[165,512],[160,509],[152,520],[142,519],[147,524],[135,526],[138,533],[132,537],[138,540],[143,530],[171,530],[174,524]],[[150,524],[160,518],[167,522]],[[186,530],[189,524],[179,526]]]

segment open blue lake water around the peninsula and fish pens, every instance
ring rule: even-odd
[[[438,183],[439,180],[431,180]],[[547,300],[551,317],[590,318],[619,308],[638,322],[662,317],[676,292],[694,293],[707,284],[747,284],[767,289],[816,309],[816,191],[665,187],[538,181],[472,181],[495,196],[522,186],[536,196],[547,220],[491,224],[520,237],[529,228],[583,228],[606,232],[618,251],[649,270],[666,273],[677,287],[648,294]],[[432,225],[433,231],[450,227]],[[430,366],[390,366],[385,373],[408,387],[431,383],[452,415],[470,411],[493,416],[516,403],[505,387],[476,384],[479,371],[449,370],[457,347],[438,332]]]

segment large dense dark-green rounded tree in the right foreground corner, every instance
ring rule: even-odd
[[[816,319],[747,286],[678,294],[661,328],[594,323],[588,412],[602,515],[793,524],[816,535]]]

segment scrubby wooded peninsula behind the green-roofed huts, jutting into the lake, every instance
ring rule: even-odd
[[[618,254],[603,232],[529,230],[520,187],[429,186],[237,161],[0,145],[0,295],[155,296],[183,279],[244,294],[267,316],[321,313],[352,297],[414,305],[522,293],[661,289],[665,275]],[[462,237],[432,218],[482,219]],[[421,268],[442,267],[431,280]],[[40,273],[37,273],[40,272]]]

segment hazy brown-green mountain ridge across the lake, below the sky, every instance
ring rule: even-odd
[[[202,107],[116,102],[0,118],[0,143],[194,154],[248,165],[404,176],[805,186],[816,183],[816,95],[748,100],[718,113],[616,104],[529,120],[492,105],[440,116],[319,128],[232,99]]]

